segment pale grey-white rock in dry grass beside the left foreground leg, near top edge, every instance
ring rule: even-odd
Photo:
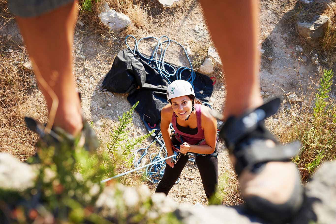
[[[107,2],[103,2],[98,14],[100,21],[108,26],[111,31],[119,32],[131,24],[129,17],[121,12],[117,12],[109,7]]]

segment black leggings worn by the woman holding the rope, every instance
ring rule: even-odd
[[[216,144],[216,149],[218,144]],[[169,165],[166,165],[165,172],[163,177],[156,188],[155,192],[163,192],[168,195],[170,189],[174,186],[178,177],[180,176],[182,169],[185,164],[188,162],[188,155],[181,156],[174,168],[171,168]],[[218,160],[215,156],[196,156],[195,162],[198,167],[198,170],[201,174],[201,179],[204,187],[205,194],[208,199],[215,193],[218,184]]]

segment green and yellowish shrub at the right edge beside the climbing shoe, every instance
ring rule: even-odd
[[[303,180],[309,178],[323,161],[336,158],[336,109],[335,102],[328,95],[332,77],[332,70],[324,70],[315,93],[315,106],[302,117],[293,118],[288,140],[299,139],[302,143],[302,153],[293,161],[298,165]]]

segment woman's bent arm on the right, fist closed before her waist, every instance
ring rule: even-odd
[[[202,109],[202,127],[204,127],[204,137],[206,142],[205,145],[196,146],[183,142],[180,149],[181,153],[184,154],[187,150],[187,152],[190,153],[211,154],[215,151],[217,139],[217,121],[210,115],[209,110]]]

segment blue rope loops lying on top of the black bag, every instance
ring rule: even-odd
[[[127,39],[129,37],[133,38],[134,41],[135,41],[134,49],[133,50],[131,49],[131,47],[127,43]],[[162,41],[163,38],[165,38],[167,40]],[[140,43],[141,40],[145,40],[145,39],[154,39],[154,40],[158,41],[158,44],[156,45],[155,50],[153,51],[152,56],[150,58],[142,55],[141,52],[139,51],[139,43]],[[167,49],[168,49],[168,47],[169,47],[169,45],[170,45],[171,42],[174,42],[174,43],[180,45],[183,48],[185,56],[188,59],[188,62],[190,64],[190,67],[181,66],[181,67],[179,67],[176,70],[173,66],[171,66],[170,64],[168,64],[168,63],[165,62],[166,51],[167,51]],[[194,88],[194,84],[193,83],[194,83],[194,80],[196,78],[196,73],[195,73],[195,71],[193,69],[193,65],[192,65],[192,63],[190,61],[190,58],[189,58],[189,56],[188,56],[188,54],[187,54],[184,46],[182,44],[180,44],[179,42],[177,42],[175,40],[171,40],[167,36],[161,36],[159,39],[156,38],[156,37],[143,37],[143,38],[139,39],[139,41],[137,41],[137,39],[134,36],[128,35],[125,38],[125,43],[126,43],[126,46],[128,47],[128,49],[130,51],[132,51],[134,54],[136,54],[136,51],[137,51],[138,55],[141,56],[144,61],[146,61],[148,64],[151,64],[151,65],[154,64],[152,67],[154,69],[156,69],[159,72],[159,74],[161,75],[161,77],[164,78],[164,79],[166,79],[169,84],[171,83],[171,81],[169,80],[170,77],[176,76],[176,79],[182,79],[181,78],[182,72],[185,71],[185,70],[189,70],[190,71],[190,75],[185,80],[188,81],[188,82],[190,82],[191,85]],[[167,45],[164,50],[163,50],[163,44]],[[160,58],[158,58],[158,51],[159,51],[159,49],[161,50]],[[165,66],[168,66],[172,70],[172,72],[169,73],[166,70]]]

